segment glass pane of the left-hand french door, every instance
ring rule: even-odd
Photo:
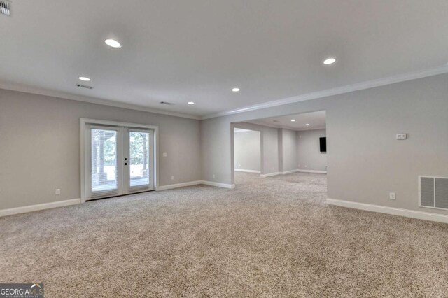
[[[92,129],[92,192],[117,190],[117,132]]]

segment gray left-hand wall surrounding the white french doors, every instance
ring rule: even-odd
[[[0,90],[0,209],[80,198],[80,118],[159,125],[160,185],[201,180],[198,120]]]

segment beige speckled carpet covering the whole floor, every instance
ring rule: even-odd
[[[0,218],[0,282],[46,297],[448,297],[448,225],[327,206],[319,174],[237,183]]]

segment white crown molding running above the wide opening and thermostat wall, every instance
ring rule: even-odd
[[[244,108],[237,108],[235,110],[225,111],[221,113],[214,113],[210,115],[205,115],[201,119],[209,119],[222,117],[227,115],[234,115],[249,111],[256,111],[262,108],[272,108],[273,106],[283,106],[284,104],[293,104],[299,101],[307,101],[310,99],[320,99],[322,97],[330,97],[333,95],[349,93],[358,90],[365,90],[374,87],[380,87],[384,85],[391,85],[395,83],[405,82],[407,80],[416,80],[418,78],[426,78],[428,76],[437,76],[442,73],[448,73],[448,65],[443,65],[439,67],[435,67],[432,69],[424,69],[422,71],[414,71],[410,73],[402,73],[396,76],[389,76],[386,78],[379,78],[377,80],[367,80],[365,82],[356,83],[352,85],[346,85],[342,87],[336,87],[328,90],[322,90],[317,92],[311,92],[307,94],[297,95],[295,97],[288,97],[286,99],[279,99],[275,101],[268,101],[263,104],[255,104],[253,106],[246,106]]]

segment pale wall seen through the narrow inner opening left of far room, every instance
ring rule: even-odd
[[[235,132],[235,169],[260,171],[260,132],[248,130]]]

